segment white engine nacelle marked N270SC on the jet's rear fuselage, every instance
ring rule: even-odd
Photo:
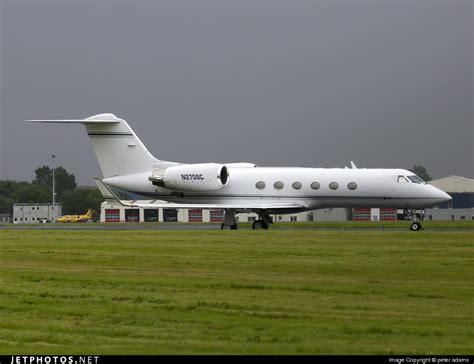
[[[215,191],[227,185],[227,167],[217,163],[181,164],[168,167],[149,180],[160,187],[177,191]]]

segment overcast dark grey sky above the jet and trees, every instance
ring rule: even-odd
[[[100,176],[111,112],[158,158],[474,177],[473,2],[0,0],[0,179]]]

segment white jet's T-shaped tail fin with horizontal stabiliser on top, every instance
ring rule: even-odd
[[[151,171],[160,163],[146,149],[125,120],[99,114],[83,120],[28,120],[40,123],[82,124],[104,177]]]

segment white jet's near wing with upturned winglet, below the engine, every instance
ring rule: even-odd
[[[110,204],[119,204],[125,207],[149,207],[149,208],[171,208],[171,209],[233,209],[238,211],[255,210],[280,210],[280,209],[304,209],[307,206],[294,202],[265,202],[265,201],[243,201],[222,204],[183,204],[166,201],[123,201],[104,183],[100,178],[94,178],[99,191],[104,196],[105,201]]]

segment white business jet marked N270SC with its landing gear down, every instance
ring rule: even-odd
[[[223,209],[222,229],[237,229],[235,214],[256,212],[253,229],[268,229],[271,214],[332,207],[405,209],[411,230],[420,230],[414,209],[451,197],[405,169],[258,167],[252,163],[184,164],[155,158],[125,120],[100,114],[83,120],[29,120],[82,124],[104,175],[97,185],[108,201],[124,206],[111,188],[139,194],[154,207]],[[145,204],[149,206],[149,203]]]

